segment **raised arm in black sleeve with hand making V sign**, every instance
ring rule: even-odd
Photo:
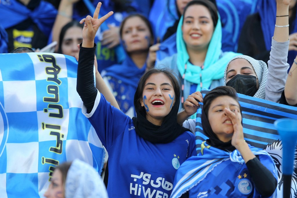
[[[97,89],[94,86],[94,79],[92,78],[96,49],[94,38],[100,25],[113,14],[113,12],[109,12],[98,19],[101,5],[102,3],[99,2],[93,17],[88,15],[85,19],[80,21],[80,23],[85,24],[83,27],[83,43],[81,44],[79,52],[80,59],[78,60],[76,90],[87,108],[87,113],[91,112],[93,109],[97,95]]]

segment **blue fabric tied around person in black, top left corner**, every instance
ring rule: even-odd
[[[38,28],[46,36],[49,36],[56,19],[57,10],[52,4],[45,1],[40,1],[38,7],[30,10],[16,0],[2,0],[0,3],[0,13],[0,21],[4,29],[31,18]]]

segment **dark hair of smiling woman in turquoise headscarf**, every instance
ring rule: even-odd
[[[209,0],[193,0],[190,1],[186,7],[184,8],[184,13],[183,15],[185,15],[187,9],[192,6],[192,5],[203,5],[204,7],[206,7],[208,9],[208,11],[210,12],[211,15],[211,19],[214,23],[214,28],[217,26],[218,20],[219,20],[219,16],[218,16],[218,10],[217,7],[214,3],[212,3]]]

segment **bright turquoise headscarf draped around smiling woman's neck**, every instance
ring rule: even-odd
[[[183,39],[182,25],[184,16],[181,16],[181,19],[178,23],[178,28],[176,31],[176,47],[177,47],[177,67],[181,76],[185,71],[185,64],[187,63],[187,71],[185,73],[185,80],[200,84],[200,74],[202,78],[203,88],[209,88],[213,80],[219,80],[224,77],[224,71],[227,66],[227,63],[234,56],[241,55],[234,52],[225,52],[222,55],[222,24],[221,18],[218,13],[218,22],[217,26],[214,29],[214,33],[211,37],[208,50],[206,53],[206,58],[204,61],[203,70],[201,67],[192,65],[189,62],[189,54],[187,52],[186,43]],[[197,86],[197,90],[200,91],[200,86]]]

